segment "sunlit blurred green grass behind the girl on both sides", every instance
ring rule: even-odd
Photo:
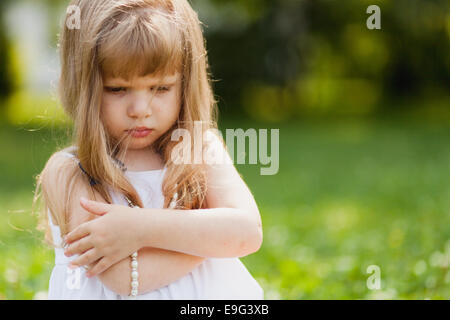
[[[258,203],[264,243],[243,258],[267,299],[449,299],[450,126],[327,120],[279,128],[280,168],[237,165]],[[30,216],[33,176],[59,131],[0,127],[0,298],[47,290],[53,253]],[[381,290],[369,290],[370,265]]]

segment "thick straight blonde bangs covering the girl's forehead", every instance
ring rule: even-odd
[[[174,74],[183,62],[182,31],[161,11],[127,12],[102,37],[98,54],[103,76]]]

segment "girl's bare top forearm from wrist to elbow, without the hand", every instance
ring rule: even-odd
[[[143,246],[210,258],[243,257],[261,246],[258,224],[245,209],[139,210]]]

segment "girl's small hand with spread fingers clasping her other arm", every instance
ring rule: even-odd
[[[64,254],[80,256],[71,267],[91,265],[86,276],[92,277],[140,249],[136,232],[138,209],[107,204],[85,198],[81,206],[102,217],[85,222],[64,237],[68,245]]]

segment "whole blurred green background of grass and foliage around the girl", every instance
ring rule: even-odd
[[[221,131],[280,130],[276,175],[236,165],[264,227],[242,260],[266,299],[449,299],[449,2],[191,3]],[[46,297],[54,256],[31,204],[71,132],[54,94],[66,5],[0,2],[0,299]]]

